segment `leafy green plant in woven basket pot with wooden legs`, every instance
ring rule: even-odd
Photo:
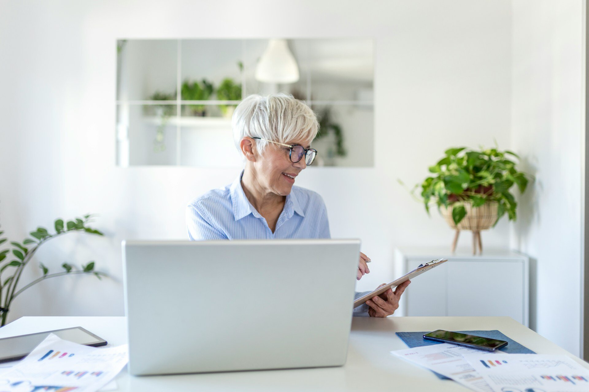
[[[432,176],[421,183],[426,211],[435,203],[452,229],[456,230],[452,252],[460,230],[472,230],[473,251],[482,252],[481,230],[497,225],[507,214],[517,218],[517,202],[511,193],[517,186],[524,193],[530,175],[516,168],[519,157],[511,151],[450,148],[445,156],[429,167]],[[417,189],[419,184],[413,190]]]

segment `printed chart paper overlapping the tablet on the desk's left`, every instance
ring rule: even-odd
[[[0,373],[0,392],[95,392],[127,364],[127,345],[98,349],[59,339],[42,341]]]

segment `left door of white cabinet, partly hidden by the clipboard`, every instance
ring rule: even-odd
[[[407,271],[415,269],[423,259],[407,262]],[[446,316],[446,269],[434,268],[411,281],[406,296],[406,316]]]

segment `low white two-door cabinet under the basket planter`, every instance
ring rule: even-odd
[[[442,257],[448,262],[412,280],[399,316],[509,316],[528,326],[528,256],[492,250],[452,255],[449,247],[396,249],[396,276]]]

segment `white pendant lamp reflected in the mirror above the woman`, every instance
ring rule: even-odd
[[[299,81],[299,66],[290,52],[286,39],[270,39],[256,66],[255,78],[264,83]]]

